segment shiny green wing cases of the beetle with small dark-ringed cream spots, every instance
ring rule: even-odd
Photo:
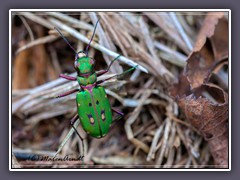
[[[91,136],[105,136],[112,124],[112,110],[103,87],[95,86],[77,93],[78,116],[83,129]]]

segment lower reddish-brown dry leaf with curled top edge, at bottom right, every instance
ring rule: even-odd
[[[190,89],[185,76],[171,89],[179,107],[206,141],[215,161],[221,168],[228,166],[228,95],[214,84],[202,84]]]

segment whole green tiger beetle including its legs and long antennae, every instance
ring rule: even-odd
[[[96,27],[99,20],[97,21],[92,37],[90,39],[89,44],[86,47],[85,51],[77,52],[68,42],[68,40],[63,36],[58,28],[55,29],[59,32],[63,40],[69,45],[69,47],[75,53],[75,61],[74,68],[77,71],[77,77],[71,77],[64,74],[60,74],[59,76],[65,78],[69,81],[78,81],[80,89],[74,89],[63,94],[57,96],[57,98],[61,98],[72,93],[77,92],[76,94],[76,103],[77,103],[77,111],[78,113],[71,119],[70,124],[73,127],[76,134],[83,141],[83,138],[80,136],[76,128],[74,127],[74,123],[79,119],[83,129],[87,132],[87,134],[91,135],[95,138],[102,138],[109,132],[111,124],[113,122],[112,112],[117,113],[119,119],[123,117],[123,113],[112,108],[107,98],[107,94],[105,92],[104,87],[101,86],[101,83],[107,81],[114,77],[122,76],[130,71],[136,69],[137,66],[132,67],[121,74],[114,75],[110,78],[104,80],[97,80],[97,77],[107,73],[118,57],[113,59],[106,70],[101,70],[96,72],[94,69],[95,60],[88,56],[88,49],[94,37]]]

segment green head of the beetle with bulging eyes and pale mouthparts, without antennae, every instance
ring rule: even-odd
[[[86,53],[79,52],[76,54],[74,68],[78,75],[89,75],[94,71],[95,61],[93,58],[88,57]]]

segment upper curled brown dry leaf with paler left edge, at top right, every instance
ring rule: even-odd
[[[208,13],[189,55],[186,76],[191,88],[201,86],[215,63],[228,57],[228,21],[223,12]]]

